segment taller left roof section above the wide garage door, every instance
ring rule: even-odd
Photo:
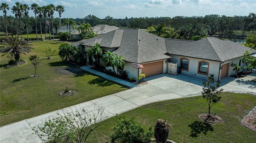
[[[118,48],[114,53],[132,63],[148,63],[171,58],[164,55],[166,53],[164,38],[140,29],[116,29],[87,39],[82,45],[91,47],[96,42],[102,47]]]

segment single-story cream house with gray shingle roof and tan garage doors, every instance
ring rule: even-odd
[[[141,72],[146,77],[166,73],[168,62],[172,62],[181,67],[182,73],[202,78],[214,74],[215,80],[219,80],[234,74],[232,65],[243,67],[240,58],[250,51],[248,47],[215,37],[198,41],[166,39],[140,29],[116,29],[72,45],[87,51],[94,43],[100,43],[104,51],[124,57],[124,70],[128,77],[134,78]],[[144,69],[136,69],[131,63],[141,64]]]

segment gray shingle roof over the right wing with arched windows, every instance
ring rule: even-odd
[[[198,41],[166,39],[167,53],[211,61],[228,61],[242,57],[250,48],[238,43],[207,37]]]

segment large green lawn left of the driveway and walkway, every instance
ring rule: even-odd
[[[63,62],[58,51],[51,60],[47,60],[42,52],[45,47],[58,49],[61,43],[32,42],[35,49],[20,57],[28,63],[18,67],[6,67],[10,59],[0,57],[0,126],[128,89]],[[30,55],[40,57],[36,74],[42,76],[29,78],[34,74],[34,67],[28,60]],[[68,72],[70,70],[73,71]],[[69,97],[56,95],[66,87],[78,90],[78,93]]]

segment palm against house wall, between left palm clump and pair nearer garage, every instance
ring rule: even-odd
[[[99,43],[94,43],[92,47],[89,47],[87,50],[87,55],[94,57],[96,61],[96,66],[100,67],[100,55],[102,55],[102,49],[100,48]]]

